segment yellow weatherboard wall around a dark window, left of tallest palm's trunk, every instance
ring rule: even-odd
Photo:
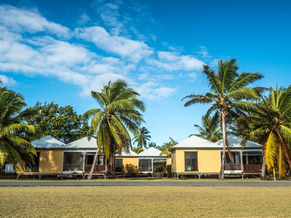
[[[197,152],[198,171],[185,171],[185,152]],[[175,149],[174,153],[173,172],[219,173],[220,171],[220,151],[218,149]]]

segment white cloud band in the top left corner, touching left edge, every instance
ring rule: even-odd
[[[10,5],[0,5],[0,24],[16,32],[48,31],[57,36],[69,37],[70,29],[40,16],[36,12],[19,9]]]

